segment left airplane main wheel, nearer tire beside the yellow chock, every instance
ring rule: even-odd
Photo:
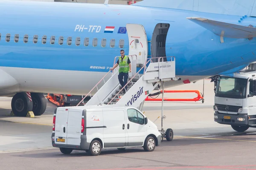
[[[12,112],[16,116],[26,116],[29,111],[33,109],[33,102],[25,92],[17,93],[12,97]]]

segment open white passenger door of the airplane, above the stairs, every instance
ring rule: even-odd
[[[126,29],[129,37],[129,55],[137,55],[137,64],[144,65],[148,57],[148,39],[145,29],[140,24],[126,24]]]

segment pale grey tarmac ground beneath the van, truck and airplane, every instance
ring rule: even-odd
[[[166,90],[200,90],[203,81]],[[253,148],[256,129],[244,133],[214,122],[213,83],[205,80],[205,102],[164,102],[163,128],[172,128],[171,142],[163,140],[153,152],[143,148],[102,150],[99,156],[85,151],[64,155],[51,145],[52,117],[56,108],[36,118],[9,116],[11,99],[0,97],[0,170],[256,170]],[[196,94],[164,94],[164,98],[194,98]],[[161,97],[159,95],[158,97]],[[161,102],[145,102],[151,121],[161,116]],[[160,118],[154,122],[161,128]]]

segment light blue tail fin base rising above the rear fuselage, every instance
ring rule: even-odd
[[[256,17],[256,0],[143,0],[134,6]]]

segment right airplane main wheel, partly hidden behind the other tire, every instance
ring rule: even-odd
[[[35,116],[40,116],[44,114],[47,105],[47,99],[42,93],[31,93],[31,98],[33,101],[33,113]]]

